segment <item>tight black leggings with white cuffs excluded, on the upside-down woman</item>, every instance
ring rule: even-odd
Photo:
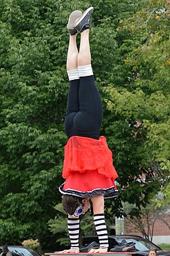
[[[69,83],[65,116],[67,137],[99,139],[103,108],[94,76],[83,76]]]

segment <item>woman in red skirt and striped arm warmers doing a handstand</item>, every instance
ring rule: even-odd
[[[72,12],[67,25],[70,34],[67,54],[69,94],[65,132],[69,140],[63,166],[65,183],[59,190],[63,193],[63,208],[68,214],[71,248],[63,253],[79,252],[79,216],[90,208],[90,201],[100,244],[100,248],[92,249],[90,253],[107,252],[104,198],[117,196],[114,180],[118,175],[112,152],[105,137],[99,137],[103,109],[91,67],[89,29],[92,11],[90,7],[84,14],[78,10]],[[76,44],[78,31],[81,33],[79,52]]]

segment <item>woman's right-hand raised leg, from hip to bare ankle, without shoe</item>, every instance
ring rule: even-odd
[[[80,111],[74,118],[74,125],[79,130],[84,131],[82,136],[99,139],[103,108],[91,67],[89,29],[81,33],[78,72],[80,76]],[[90,136],[90,133],[92,136]]]

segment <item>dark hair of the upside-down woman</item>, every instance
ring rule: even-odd
[[[76,197],[74,195],[63,195],[63,209],[67,214],[73,215],[78,205],[82,203],[82,197]]]

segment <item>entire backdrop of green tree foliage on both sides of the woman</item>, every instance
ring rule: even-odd
[[[55,229],[52,220],[62,218],[54,205],[61,202],[67,142],[66,24],[71,11],[90,5],[92,66],[104,109],[101,133],[114,153],[120,185],[120,197],[106,203],[107,216],[122,214],[121,201],[134,203],[137,212],[165,185],[166,1],[1,0],[1,241],[39,238],[50,219]]]

